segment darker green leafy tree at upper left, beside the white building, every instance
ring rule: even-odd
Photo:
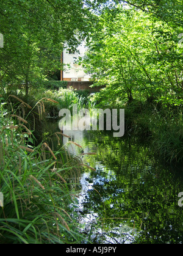
[[[91,26],[91,7],[102,0],[10,0],[1,1],[0,83],[38,83],[48,71],[60,68],[63,44],[76,48]],[[12,89],[12,87],[10,88]]]

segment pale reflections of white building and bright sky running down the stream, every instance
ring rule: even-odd
[[[64,134],[70,136],[63,137],[63,144],[66,145],[70,153],[73,155],[79,155],[81,153],[81,149],[76,145],[70,144],[67,142],[73,141],[82,146],[83,153],[95,152],[98,150],[98,146],[96,146],[95,141],[88,142],[88,132],[87,131],[64,131]],[[94,156],[82,156],[82,161],[85,164],[88,163],[88,157],[91,159]],[[107,169],[101,162],[95,161],[95,169],[96,174],[93,176],[91,172],[84,172],[81,176],[81,192],[79,192],[78,205],[77,205],[77,214],[79,218],[79,223],[81,224],[81,233],[86,233],[87,235],[91,232],[90,240],[94,241],[94,243],[131,243],[134,240],[134,230],[129,227],[127,224],[119,224],[117,227],[108,227],[106,229],[105,224],[99,225],[101,223],[101,218],[99,213],[94,210],[88,210],[89,212],[85,212],[85,205],[90,200],[90,196],[88,192],[93,191],[98,194],[93,188],[95,185],[105,187],[106,183],[110,181],[116,181],[117,177],[113,170]],[[112,194],[106,194],[102,198],[99,196],[101,203],[105,203],[106,200],[109,200],[110,197],[118,196],[123,192],[123,188],[115,188],[113,189]],[[95,202],[94,202],[95,203]],[[110,203],[110,208],[113,208],[113,203]]]

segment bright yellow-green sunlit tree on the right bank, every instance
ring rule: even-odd
[[[84,65],[98,84],[106,85],[100,96],[111,104],[125,98],[181,103],[178,32],[142,10],[122,5],[99,16]]]

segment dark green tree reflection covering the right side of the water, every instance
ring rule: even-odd
[[[93,189],[88,190],[83,202],[84,214],[97,213],[95,227],[103,223],[111,236],[115,229],[125,235],[128,228],[128,235],[134,229],[138,233],[133,238],[136,243],[181,243],[178,193],[183,188],[175,171],[157,163],[149,148],[99,135],[99,142],[97,136],[93,138],[97,155],[87,156],[87,162],[97,170],[88,178]]]

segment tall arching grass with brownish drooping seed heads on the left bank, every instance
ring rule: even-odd
[[[46,142],[30,146],[32,131],[25,127],[27,121],[1,103],[0,243],[80,243],[71,205],[81,164],[64,148],[53,152]]]

